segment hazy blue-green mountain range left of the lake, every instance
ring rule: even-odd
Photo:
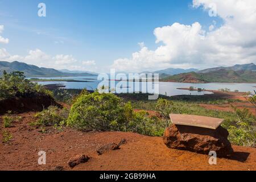
[[[3,71],[7,73],[13,71],[24,72],[26,77],[75,77],[75,76],[95,76],[96,74],[92,73],[66,73],[57,71],[52,68],[39,68],[35,65],[30,65],[26,63],[20,63],[14,61],[9,63],[7,61],[0,61],[0,76],[3,74]]]

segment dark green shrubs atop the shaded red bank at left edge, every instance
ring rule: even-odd
[[[44,86],[25,79],[23,72],[3,73],[0,77],[0,100],[14,97],[30,97],[35,94],[52,93]]]

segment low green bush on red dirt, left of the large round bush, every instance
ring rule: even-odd
[[[67,109],[59,109],[56,106],[49,106],[35,115],[37,119],[34,125],[39,126],[63,126],[68,118],[69,111]]]

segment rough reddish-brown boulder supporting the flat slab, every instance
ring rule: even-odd
[[[163,140],[169,148],[207,155],[209,151],[216,151],[217,156],[227,156],[233,153],[228,135],[228,130],[221,126],[212,130],[203,127],[172,125],[164,131]]]

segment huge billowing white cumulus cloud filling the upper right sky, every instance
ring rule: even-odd
[[[203,30],[199,22],[191,25],[174,23],[154,30],[155,50],[141,46],[130,58],[114,61],[118,71],[153,71],[167,67],[206,68],[256,61],[255,0],[193,0],[193,7],[209,11],[216,5],[221,27],[213,22]],[[208,15],[208,14],[207,14]]]

